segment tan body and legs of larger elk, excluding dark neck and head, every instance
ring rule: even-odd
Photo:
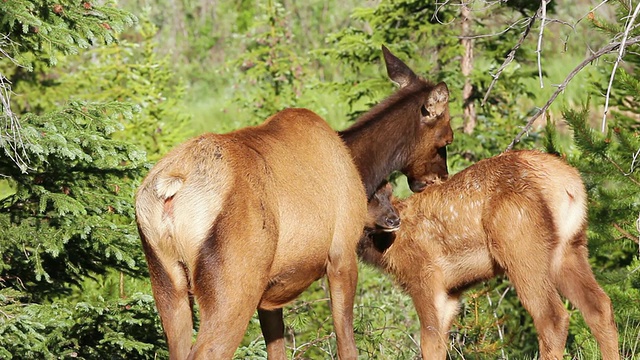
[[[172,359],[231,358],[257,307],[278,309],[325,273],[340,354],[355,355],[350,294],[366,196],[348,149],[316,114],[289,109],[182,144],[151,170],[136,211]],[[190,294],[201,315],[193,349]]]

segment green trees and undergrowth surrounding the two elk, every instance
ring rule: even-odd
[[[0,1],[0,358],[166,358],[135,227],[142,177],[191,136],[285,107],[348,126],[393,91],[382,44],[447,82],[452,173],[520,133],[515,148],[557,152],[580,169],[591,263],[613,300],[623,358],[640,358],[638,9],[632,0]],[[566,358],[598,358],[566,306]],[[355,311],[362,358],[419,356],[415,311],[388,276],[360,267]],[[336,357],[323,280],[285,322],[292,358]],[[536,352],[507,279],[467,293],[450,358]],[[236,357],[266,357],[257,319]]]

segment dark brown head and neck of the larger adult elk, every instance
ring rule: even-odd
[[[407,176],[420,192],[447,171],[446,146],[453,141],[449,90],[432,84],[382,47],[389,78],[400,90],[340,131],[370,199],[392,171]]]

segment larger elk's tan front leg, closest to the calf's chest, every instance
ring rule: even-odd
[[[357,359],[358,352],[353,334],[353,303],[358,282],[355,248],[342,253],[337,251],[330,253],[327,279],[331,296],[331,315],[338,343],[338,357],[341,360]]]

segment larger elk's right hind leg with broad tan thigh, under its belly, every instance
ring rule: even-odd
[[[201,325],[190,359],[231,359],[267,287],[275,234],[260,216],[244,215],[243,226],[238,216],[219,217],[199,249],[193,288]]]

